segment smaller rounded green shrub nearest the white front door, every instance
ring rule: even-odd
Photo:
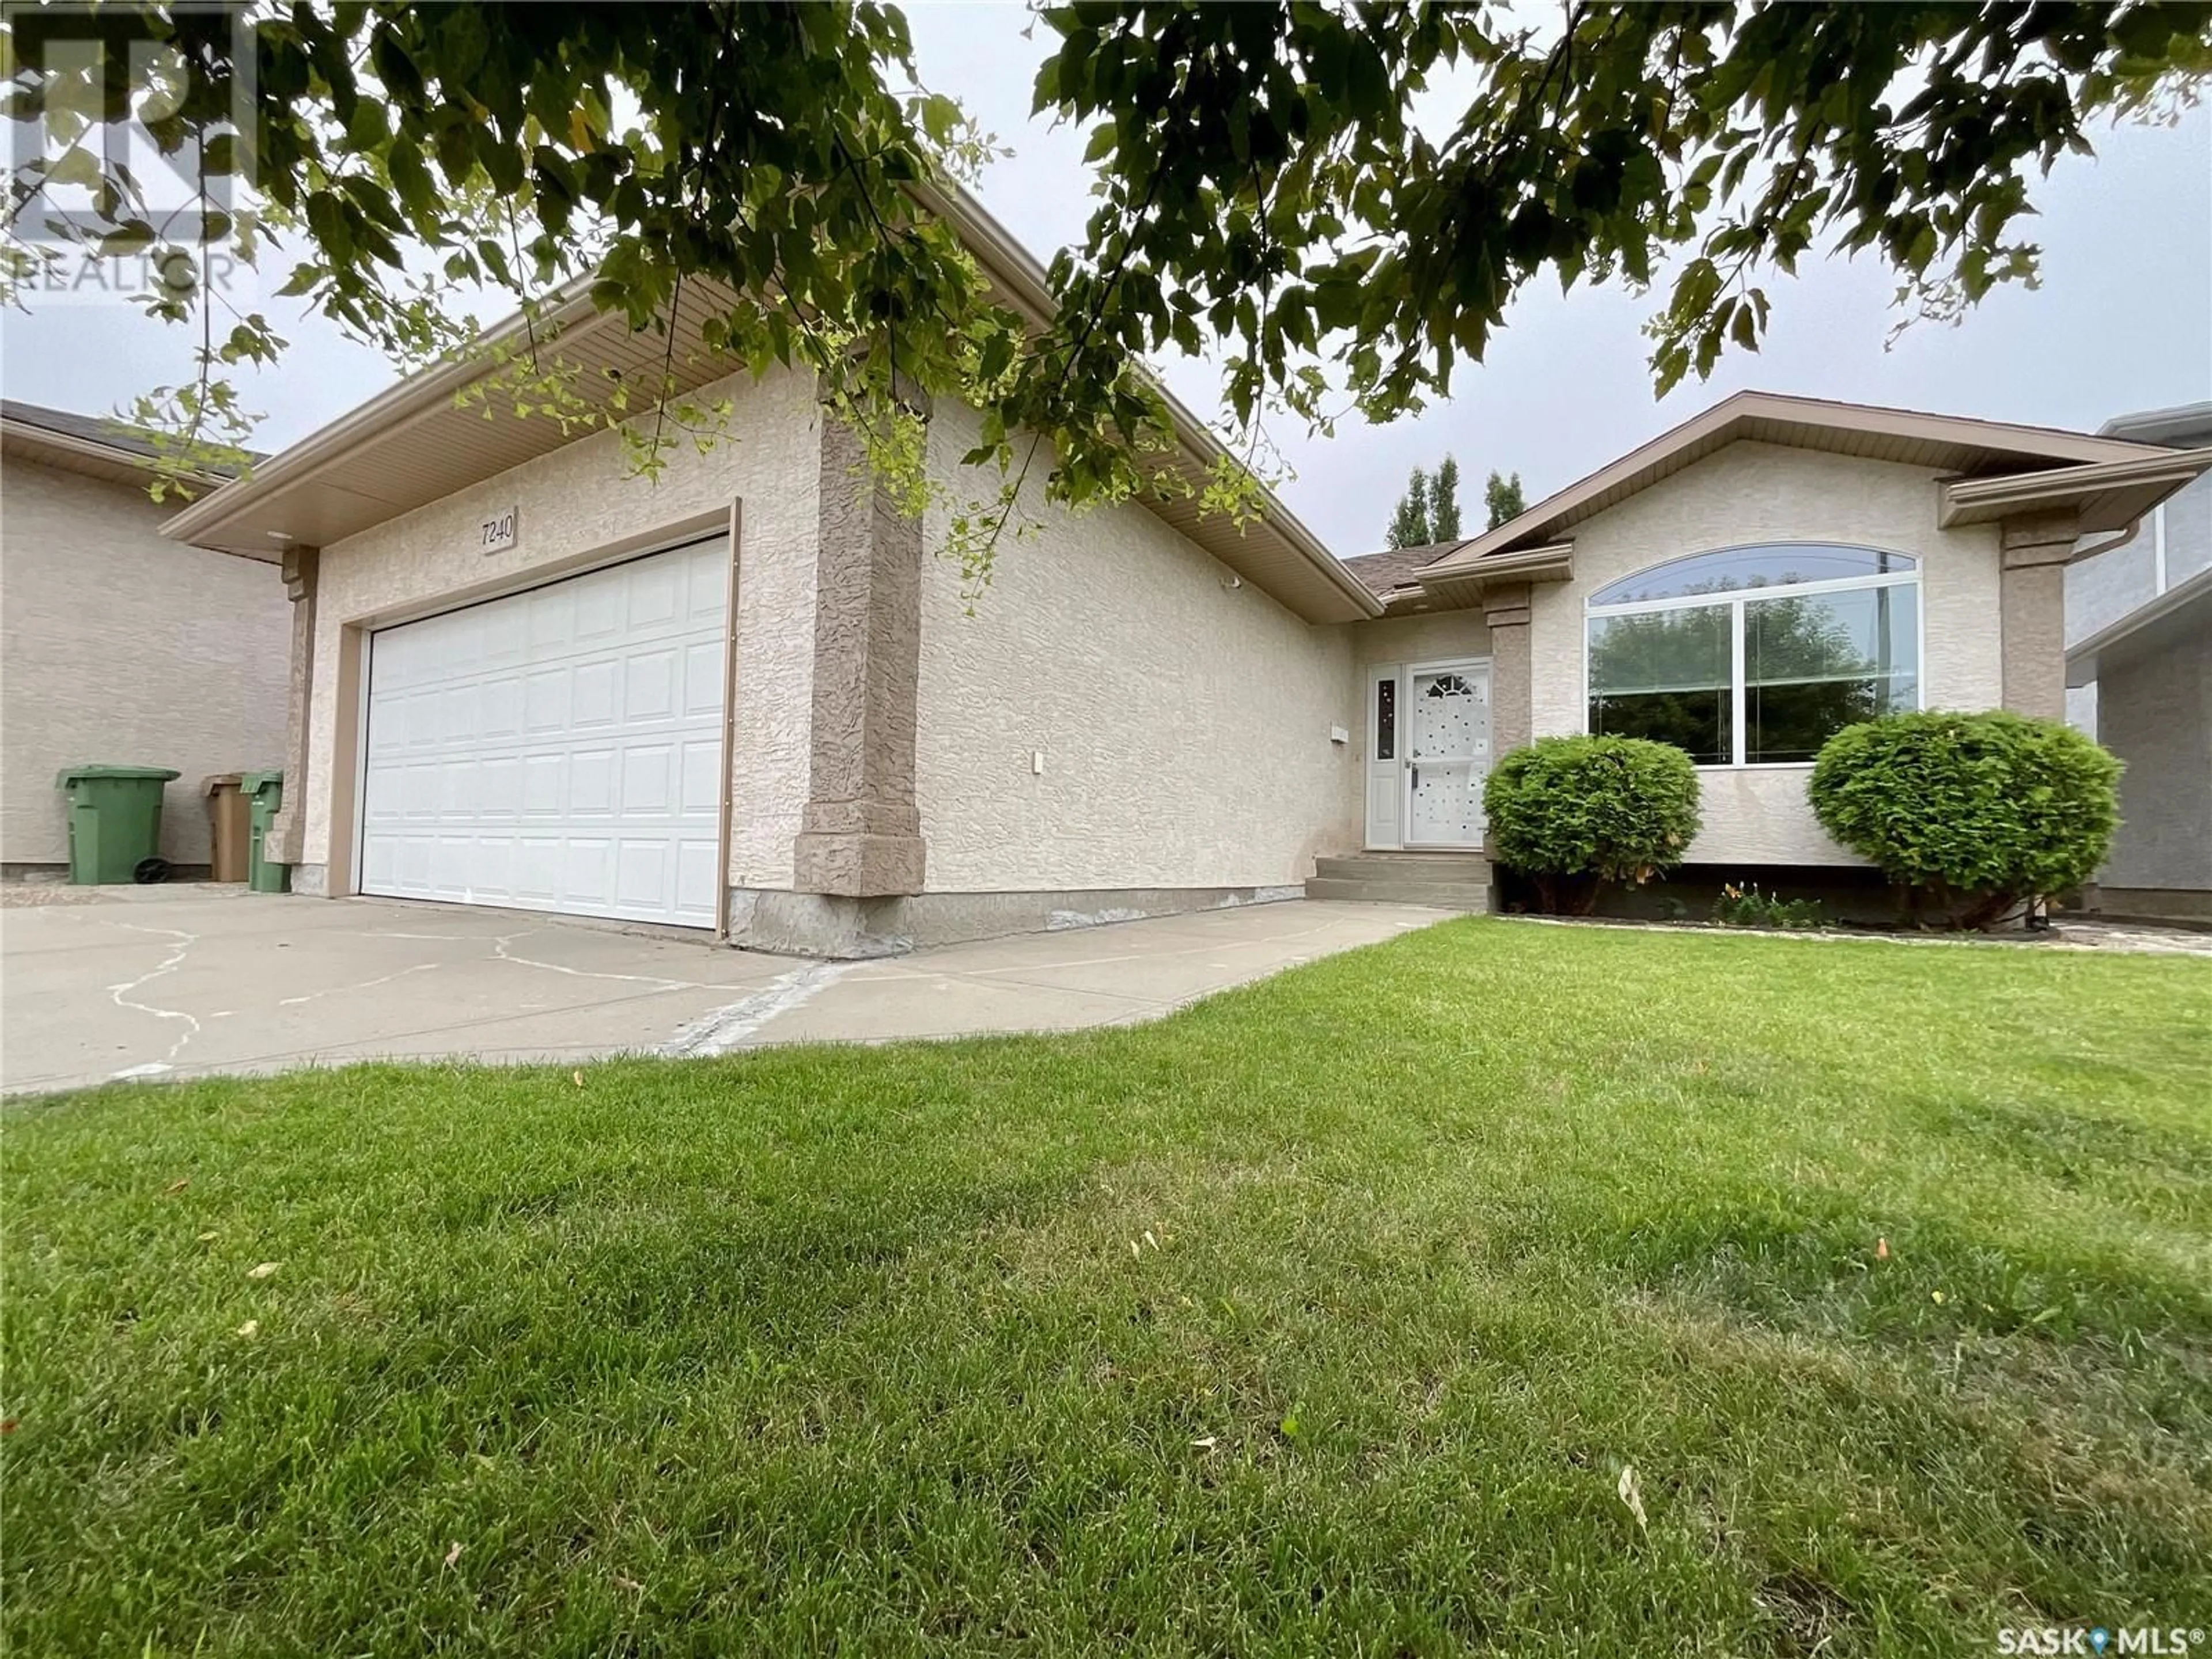
[[[1498,863],[1535,883],[1548,911],[1588,914],[1606,883],[1646,883],[1697,834],[1697,768],[1672,743],[1544,737],[1482,785]]]

